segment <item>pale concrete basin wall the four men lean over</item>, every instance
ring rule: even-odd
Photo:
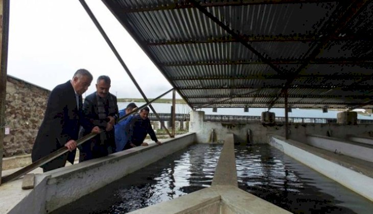
[[[48,213],[195,142],[195,133],[135,147],[35,176],[35,188],[9,213]],[[29,212],[30,209],[30,212]]]

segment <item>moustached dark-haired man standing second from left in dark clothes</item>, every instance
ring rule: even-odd
[[[96,92],[84,99],[83,113],[94,125],[105,131],[95,138],[85,142],[79,147],[79,162],[103,157],[115,152],[114,124],[119,117],[116,97],[109,93],[111,86],[110,77],[102,75],[97,79]],[[84,127],[79,136],[85,136],[90,129]]]

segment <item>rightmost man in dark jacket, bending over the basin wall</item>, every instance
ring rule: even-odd
[[[140,111],[138,115],[135,115],[128,126],[128,142],[124,149],[129,149],[136,146],[148,146],[147,143],[144,143],[145,137],[149,134],[150,138],[161,145],[155,136],[152,125],[148,118],[149,108],[145,107]]]

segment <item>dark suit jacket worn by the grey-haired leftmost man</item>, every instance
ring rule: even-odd
[[[35,162],[37,159],[64,147],[69,140],[77,140],[80,125],[89,130],[93,128],[90,121],[85,119],[82,114],[82,96],[79,96],[78,110],[74,88],[70,81],[67,81],[56,86],[49,95],[44,119],[32,149],[32,161]],[[67,159],[73,164],[75,152],[76,150],[64,155],[65,160]],[[53,165],[54,161],[48,164]]]

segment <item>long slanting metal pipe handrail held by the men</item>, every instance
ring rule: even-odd
[[[145,108],[145,106],[147,106],[147,105],[149,105],[150,103],[154,102],[155,100],[161,98],[162,96],[165,96],[165,95],[168,94],[171,90],[172,90],[172,89],[170,89],[169,91],[167,91],[167,92],[161,94],[160,96],[158,96],[157,98],[151,100],[150,102],[147,102],[146,104],[144,104],[144,105],[142,105],[142,106],[139,106],[136,110],[133,110],[132,112],[130,112],[130,113],[124,115],[123,117],[119,118],[119,119],[116,121],[116,123],[118,123],[118,122],[124,120],[125,118],[127,118],[128,116],[130,116],[130,115],[136,113],[139,109],[143,109],[143,108]],[[78,140],[76,141],[76,142],[77,142],[77,145],[78,145],[78,146],[81,145],[82,143],[88,141],[89,139],[95,137],[96,135],[97,135],[96,133],[89,133],[88,135],[84,136],[83,138],[78,139]],[[30,165],[28,165],[28,166],[26,166],[26,167],[24,167],[24,168],[22,168],[22,169],[20,169],[20,170],[18,170],[18,171],[16,171],[16,172],[10,174],[10,175],[4,176],[4,177],[2,178],[3,183],[8,182],[8,181],[15,180],[15,179],[19,178],[20,176],[23,176],[23,175],[25,175],[25,174],[31,172],[32,170],[34,170],[34,169],[36,169],[36,168],[38,168],[38,167],[40,167],[40,166],[42,166],[42,165],[44,165],[44,164],[46,164],[46,163],[52,161],[54,158],[61,156],[62,154],[66,153],[67,151],[68,151],[68,149],[67,149],[66,147],[62,147],[62,148],[60,148],[60,149],[58,149],[58,150],[52,152],[51,154],[49,154],[49,155],[47,155],[47,156],[45,156],[45,157],[42,157],[42,158],[38,159],[37,161],[35,161],[34,163],[32,163],[32,164],[30,164]]]

